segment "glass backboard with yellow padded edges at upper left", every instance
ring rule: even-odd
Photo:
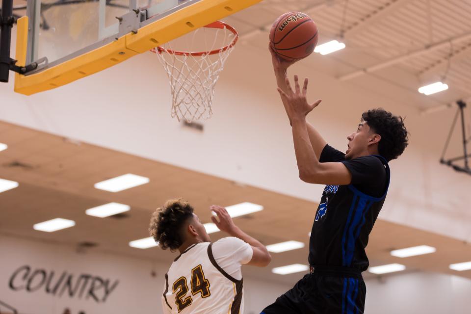
[[[261,0],[27,0],[15,77],[31,95],[91,75]]]

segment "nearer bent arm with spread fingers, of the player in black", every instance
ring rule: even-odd
[[[298,164],[299,178],[304,182],[332,185],[350,184],[352,177],[350,171],[341,162],[319,162],[317,152],[308,134],[306,115],[311,112],[321,100],[314,104],[308,104],[306,100],[308,79],[304,81],[301,92],[298,77],[294,76],[295,92],[289,85],[288,78],[285,80],[288,93],[278,88],[282,99],[287,104],[287,112],[291,120],[294,152]]]

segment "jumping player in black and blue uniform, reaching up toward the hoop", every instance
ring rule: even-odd
[[[364,112],[357,131],[347,136],[344,153],[327,145],[306,115],[320,100],[308,104],[308,80],[301,89],[297,76],[291,88],[287,69],[293,62],[280,59],[269,47],[278,91],[292,126],[299,177],[326,184],[311,231],[310,274],[266,307],[263,314],[360,314],[368,268],[368,235],[388,191],[388,162],[407,146],[401,117],[381,108]]]

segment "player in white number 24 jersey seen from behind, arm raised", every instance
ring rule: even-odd
[[[166,314],[242,314],[242,264],[266,266],[265,246],[235,226],[227,210],[211,206],[216,226],[229,235],[211,243],[193,208],[170,200],[152,215],[150,232],[162,249],[178,250],[162,295]]]

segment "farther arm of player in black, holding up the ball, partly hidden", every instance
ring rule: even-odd
[[[276,83],[283,92],[288,93],[288,86],[286,85],[286,81],[285,81],[288,78],[288,74],[287,74],[288,67],[296,61],[290,62],[290,61],[281,59],[273,51],[273,49],[271,48],[271,45],[268,45],[268,50],[271,53],[271,59],[273,63],[273,70],[275,71]],[[283,99],[282,101],[283,101],[283,106],[285,107],[285,110],[287,111],[287,114],[288,114],[287,104]],[[289,118],[289,115],[288,115],[288,118]],[[289,124],[292,125],[291,120],[289,120]],[[313,146],[315,155],[317,156],[317,158],[320,158],[320,154],[322,153],[322,150],[324,149],[327,143],[312,124],[310,124],[309,122],[306,122],[306,127],[307,127],[308,136],[311,141],[311,145]]]

